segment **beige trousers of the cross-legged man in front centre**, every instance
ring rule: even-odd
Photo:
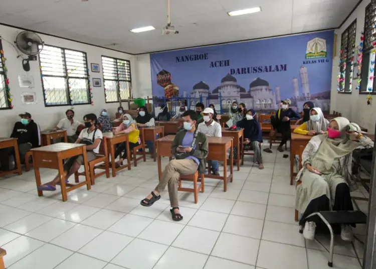
[[[179,176],[194,174],[199,165],[193,159],[171,160],[164,168],[162,177],[155,190],[161,193],[168,186],[171,207],[178,207],[177,188],[179,186]]]

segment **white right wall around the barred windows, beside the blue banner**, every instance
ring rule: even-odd
[[[356,80],[352,81],[352,93],[338,93],[337,92],[337,73],[339,72],[339,50],[341,47],[341,34],[343,31],[356,19],[356,40],[355,47],[360,43],[360,32],[364,30],[364,15],[365,7],[370,3],[370,0],[363,0],[357,9],[351,14],[340,29],[334,31],[337,34],[336,44],[336,57],[333,59],[333,71],[332,71],[332,87],[330,96],[330,109],[339,111],[342,116],[348,118],[351,121],[358,123],[359,125],[368,128],[369,133],[374,133],[375,121],[376,121],[376,96],[371,101],[370,105],[367,105],[366,96],[359,94],[356,89]]]

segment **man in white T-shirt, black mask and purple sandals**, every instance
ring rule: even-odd
[[[85,129],[83,129],[75,143],[86,145],[87,161],[93,161],[99,153],[99,146],[103,139],[103,134],[100,129],[97,129],[97,116],[93,113],[84,116]],[[76,173],[84,165],[84,158],[82,155],[69,158],[64,164],[64,179],[68,183],[68,178]],[[39,191],[55,191],[56,185],[60,184],[60,177],[57,175],[53,181],[43,184],[38,187]]]

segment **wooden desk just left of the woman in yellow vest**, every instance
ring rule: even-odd
[[[141,131],[140,131],[141,134]],[[128,133],[120,133],[120,135],[112,135],[110,132],[104,133],[106,140],[107,140],[107,150],[109,151],[109,155],[111,156],[111,170],[112,170],[112,177],[116,177],[116,172],[123,170],[124,168],[128,168],[130,170],[130,151],[129,151],[129,141],[128,141]],[[115,168],[115,145],[120,143],[126,143],[126,151],[127,151],[127,164],[120,166],[119,168]]]

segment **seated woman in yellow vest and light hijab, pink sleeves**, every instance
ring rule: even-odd
[[[134,130],[138,130],[136,122],[133,120],[132,116],[130,114],[124,114],[123,122],[113,131],[114,135],[119,135],[120,133],[129,133]],[[141,144],[140,137],[137,138],[137,143],[131,143],[129,142],[129,150],[132,150],[134,147],[137,147]],[[115,168],[119,168],[123,160],[127,158],[127,151],[126,151],[127,144],[125,142],[121,143],[116,151],[115,151],[115,159],[122,153],[123,155],[120,157],[119,161],[115,163]]]

